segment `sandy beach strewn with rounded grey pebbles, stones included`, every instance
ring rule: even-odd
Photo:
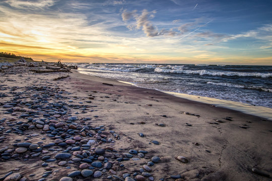
[[[0,72],[0,180],[272,180],[269,120],[41,68]]]

